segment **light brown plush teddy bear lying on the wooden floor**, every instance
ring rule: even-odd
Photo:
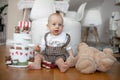
[[[112,68],[117,61],[110,48],[103,51],[90,47],[81,42],[78,46],[78,52],[75,57],[75,68],[81,73],[94,73],[96,70],[106,72]]]

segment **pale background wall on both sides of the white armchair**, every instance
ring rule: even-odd
[[[7,39],[13,38],[14,27],[22,19],[22,11],[18,10],[17,3],[19,0],[9,0],[8,6],[8,27]],[[113,11],[120,10],[120,6],[115,6],[114,0],[70,0],[69,10],[77,10],[79,5],[87,1],[86,10],[90,8],[101,8],[103,24],[98,28],[98,33],[102,42],[108,42],[109,39],[109,18]],[[89,38],[89,40],[91,40]]]

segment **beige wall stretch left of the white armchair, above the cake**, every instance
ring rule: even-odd
[[[8,27],[7,27],[7,40],[13,38],[15,26],[21,20],[22,11],[18,9],[17,3],[19,0],[8,0]]]

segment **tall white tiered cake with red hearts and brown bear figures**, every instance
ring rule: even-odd
[[[34,48],[30,26],[16,26],[13,34],[13,44],[10,47],[10,60],[7,64],[12,66],[27,66],[28,61],[34,57]]]

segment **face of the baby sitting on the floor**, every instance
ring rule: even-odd
[[[59,15],[53,15],[48,21],[48,28],[52,35],[59,35],[63,30],[63,19]]]

